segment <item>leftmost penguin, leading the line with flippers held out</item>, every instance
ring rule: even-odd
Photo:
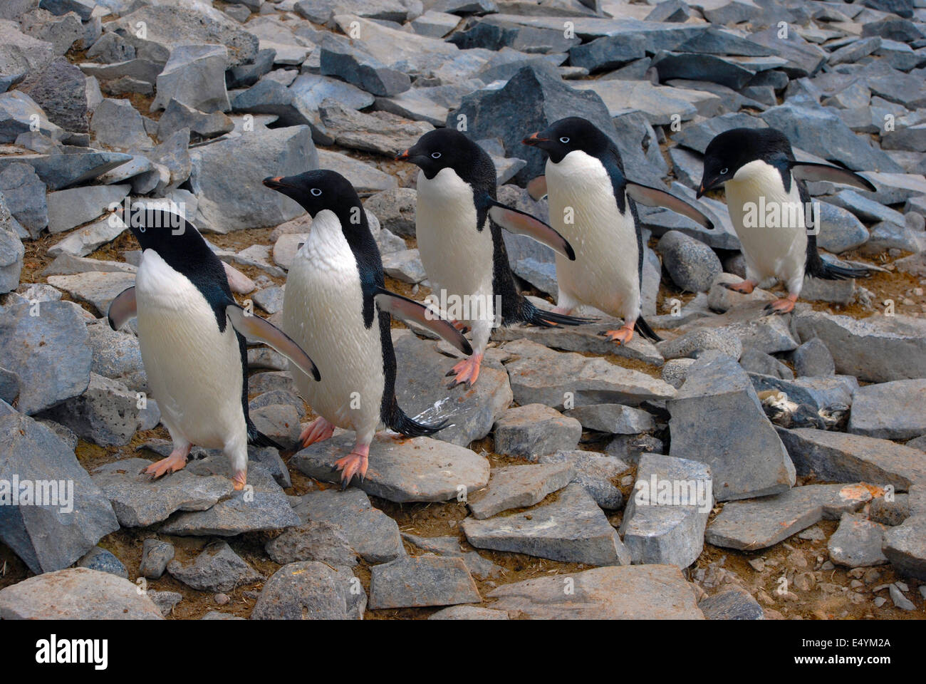
[[[135,285],[112,300],[106,317],[113,330],[137,318],[148,386],[173,441],[170,455],[144,473],[180,470],[196,444],[229,456],[234,488],[243,489],[247,445],[281,448],[248,415],[244,337],[268,344],[316,378],[319,370],[279,328],[238,305],[222,262],[192,223],[143,203],[127,216],[142,263]]]

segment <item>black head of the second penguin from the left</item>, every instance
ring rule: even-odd
[[[312,218],[319,211],[328,209],[337,215],[342,226],[367,226],[367,214],[357,190],[337,171],[319,169],[294,176],[273,176],[265,178],[264,184],[292,197]]]

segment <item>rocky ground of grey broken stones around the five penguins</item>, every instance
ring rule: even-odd
[[[923,0],[6,0],[0,487],[74,489],[72,511],[0,517],[0,617],[921,618],[924,75]],[[763,316],[769,291],[720,285],[744,274],[722,195],[699,203],[712,233],[642,208],[664,342],[501,329],[479,383],[447,390],[454,350],[396,323],[400,404],[453,426],[378,435],[344,492],[350,435],[296,450],[311,407],[251,348],[251,415],[287,450],[252,449],[244,492],[205,451],[138,475],[169,442],[131,324],[104,318],[140,256],[113,203],[182,203],[273,320],[311,222],[260,180],[334,169],[388,284],[423,298],[416,174],[394,154],[464,122],[499,197],[543,218],[522,189],[543,158],[519,141],[569,115],[692,201],[714,134],[782,129],[876,185],[810,190],[826,258],[879,270]],[[551,306],[552,252],[506,241]],[[705,498],[645,505],[654,481]]]

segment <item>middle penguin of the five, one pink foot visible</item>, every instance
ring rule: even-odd
[[[447,374],[455,375],[450,387],[476,382],[498,323],[588,323],[538,309],[518,292],[501,228],[532,237],[563,260],[575,260],[575,254],[546,223],[495,199],[495,166],[482,147],[463,133],[442,128],[422,135],[396,159],[420,169],[415,234],[421,264],[434,291],[444,294],[447,308],[459,310],[457,327],[472,328],[474,351]]]

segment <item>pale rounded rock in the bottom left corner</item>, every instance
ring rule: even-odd
[[[4,620],[161,620],[128,579],[85,567],[30,577],[0,589]]]

